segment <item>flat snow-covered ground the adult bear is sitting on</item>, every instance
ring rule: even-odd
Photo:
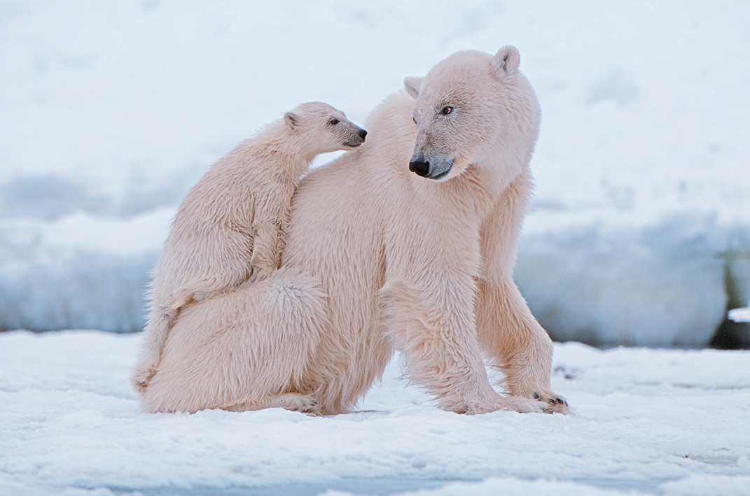
[[[0,333],[0,495],[748,495],[750,351],[555,346],[577,416],[437,410],[386,372],[359,413],[142,414],[139,336]]]

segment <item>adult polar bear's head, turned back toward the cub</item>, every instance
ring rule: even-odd
[[[472,166],[493,167],[505,184],[521,172],[531,158],[541,114],[519,60],[513,46],[494,56],[458,52],[424,78],[404,79],[416,99],[412,172],[447,181]]]

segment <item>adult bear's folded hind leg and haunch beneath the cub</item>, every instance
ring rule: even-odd
[[[140,399],[148,412],[316,412],[308,365],[327,321],[316,279],[278,270],[270,279],[181,311],[156,375]]]

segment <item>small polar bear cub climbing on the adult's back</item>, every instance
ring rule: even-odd
[[[365,142],[367,131],[326,103],[302,103],[226,154],[193,186],[172,221],[151,284],[136,390],[148,386],[166,335],[193,301],[265,279],[278,268],[290,202],[312,160]]]

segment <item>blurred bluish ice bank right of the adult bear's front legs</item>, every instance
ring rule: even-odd
[[[556,229],[539,217],[526,223],[516,280],[558,341],[700,347],[730,297],[750,296],[750,264],[727,252],[750,240],[750,226],[683,214],[654,225],[610,218]]]

